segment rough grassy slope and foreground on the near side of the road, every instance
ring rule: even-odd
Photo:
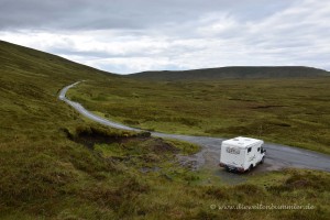
[[[0,219],[327,219],[330,175],[287,169],[226,185],[176,154],[198,147],[94,124],[57,99],[113,75],[0,42]],[[101,86],[101,84],[100,84]],[[147,85],[145,85],[147,86]],[[216,205],[305,210],[219,210]]]

